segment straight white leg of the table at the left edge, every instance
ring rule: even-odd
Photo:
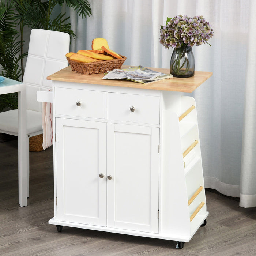
[[[19,205],[27,205],[27,106],[26,84],[18,92]]]

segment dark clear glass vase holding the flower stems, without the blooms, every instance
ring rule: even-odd
[[[191,46],[184,45],[173,49],[170,73],[174,77],[184,78],[195,74],[195,58]]]

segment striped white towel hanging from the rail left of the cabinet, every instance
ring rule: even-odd
[[[43,102],[42,106],[43,148],[44,150],[53,144],[52,130],[52,103]]]

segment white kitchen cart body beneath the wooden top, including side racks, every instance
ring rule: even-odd
[[[53,81],[53,119],[49,223],[191,239],[208,215],[193,98]]]

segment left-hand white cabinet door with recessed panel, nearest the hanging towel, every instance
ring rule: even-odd
[[[106,226],[106,123],[56,118],[56,135],[57,220]]]

